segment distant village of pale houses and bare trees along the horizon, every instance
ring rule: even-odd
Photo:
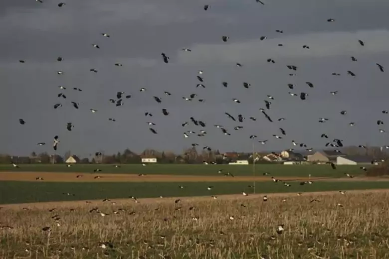
[[[317,150],[317,151],[295,151],[286,149],[282,151],[264,152],[220,152],[219,150],[202,150],[198,152],[195,147],[185,150],[182,154],[170,151],[157,151],[146,149],[137,154],[130,149],[117,154],[104,154],[96,152],[88,157],[79,157],[66,152],[64,156],[47,153],[36,154],[32,152],[29,156],[0,155],[0,163],[178,163],[178,164],[252,164],[255,163],[278,163],[285,165],[312,164],[333,162],[336,164],[364,164],[380,163],[389,156],[389,149],[382,147],[358,147],[349,146],[341,150]]]

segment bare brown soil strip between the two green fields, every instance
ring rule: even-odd
[[[77,178],[77,175],[82,177]],[[100,178],[95,179],[96,176]],[[38,181],[41,177],[45,182],[246,182],[270,181],[269,176],[193,176],[193,175],[158,175],[149,174],[98,174],[98,173],[53,173],[53,172],[0,172],[0,181]],[[307,181],[308,179],[324,180],[327,177],[279,177],[288,181]]]

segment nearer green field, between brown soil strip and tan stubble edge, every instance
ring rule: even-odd
[[[312,185],[299,185],[299,182],[289,182],[291,187],[285,187],[282,183],[257,182],[257,193],[277,192],[313,192],[335,190],[365,190],[386,189],[389,182],[367,181],[320,181]],[[66,200],[89,200],[104,198],[138,198],[177,197],[177,196],[211,196],[221,194],[235,194],[245,191],[252,193],[252,182],[187,182],[179,188],[179,183],[170,182],[140,182],[140,183],[65,183],[65,182],[0,182],[0,204],[47,202]],[[207,186],[213,186],[208,191]],[[71,193],[68,196],[63,193]]]

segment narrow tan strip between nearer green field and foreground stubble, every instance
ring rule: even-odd
[[[389,189],[374,189],[374,190],[350,190],[346,191],[345,195],[350,194],[374,194],[374,193],[385,193],[389,192]],[[322,192],[304,192],[301,196],[308,197],[319,197],[319,196],[330,196],[330,195],[341,195],[339,191],[322,191]],[[257,193],[257,194],[249,194],[248,196],[243,196],[242,194],[225,194],[218,195],[216,201],[218,200],[253,200],[253,199],[262,199],[263,195],[267,195],[269,199],[272,197],[291,197],[291,195],[296,195],[295,192],[292,193]],[[297,196],[297,195],[296,195]],[[161,204],[161,203],[174,203],[175,200],[181,199],[184,203],[191,202],[204,202],[204,201],[214,201],[214,199],[210,196],[192,196],[192,197],[167,197],[167,198],[140,198],[138,199],[141,204]],[[90,202],[87,204],[86,202]],[[113,206],[124,206],[129,204],[135,204],[133,199],[111,199],[111,202],[115,202],[116,204]],[[103,205],[106,202],[102,200],[83,200],[83,201],[57,201],[57,202],[36,202],[36,203],[18,203],[18,204],[5,204],[1,205],[1,209],[7,210],[20,210],[22,208],[28,209],[52,209],[52,208],[85,208],[85,207],[96,207],[99,205]],[[109,202],[110,204],[110,202]]]

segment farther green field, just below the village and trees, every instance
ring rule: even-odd
[[[93,172],[101,169],[101,173],[144,173],[144,174],[174,174],[174,175],[218,175],[222,169],[236,176],[253,174],[252,165],[204,165],[204,164],[122,164],[115,168],[112,164],[77,164],[67,167],[66,164],[21,164],[19,168],[10,165],[0,165],[0,171],[23,172]],[[341,165],[333,170],[330,165],[282,165],[256,164],[255,174],[270,173],[274,176],[308,177],[343,177],[345,173],[353,175],[363,174],[359,165]]]

